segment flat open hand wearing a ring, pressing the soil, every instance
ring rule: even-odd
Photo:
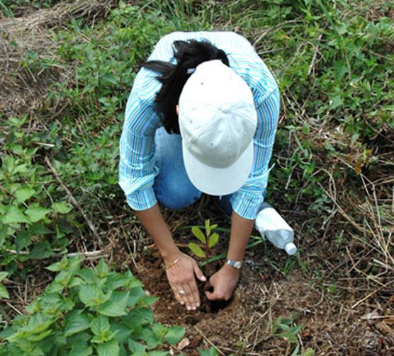
[[[196,310],[200,306],[200,294],[194,275],[206,281],[196,260],[182,253],[178,262],[168,268],[166,273],[175,299],[185,305],[187,310]]]

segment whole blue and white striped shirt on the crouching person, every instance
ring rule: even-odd
[[[159,59],[175,63],[174,40],[208,40],[224,50],[230,67],[251,88],[257,110],[257,130],[254,134],[254,164],[247,182],[231,197],[232,209],[245,219],[255,219],[264,201],[269,176],[269,160],[278,125],[280,97],[278,86],[269,69],[252,45],[232,32],[174,32],[165,35],[154,47],[148,60]],[[162,84],[157,73],[142,68],[135,76],[125,110],[125,122],[120,138],[119,184],[128,205],[146,210],[157,203],[154,195],[154,134],[162,126],[154,110],[154,98]]]

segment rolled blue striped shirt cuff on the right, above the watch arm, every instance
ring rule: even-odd
[[[234,193],[230,198],[232,209],[244,219],[254,220],[259,213],[259,208],[264,202],[263,194]]]

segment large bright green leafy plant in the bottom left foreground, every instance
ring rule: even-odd
[[[154,322],[142,283],[130,271],[111,272],[101,260],[80,268],[81,258],[62,258],[47,267],[57,272],[45,292],[0,333],[0,355],[165,356],[184,329]]]

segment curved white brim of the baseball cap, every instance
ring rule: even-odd
[[[249,177],[253,163],[253,140],[235,163],[226,168],[213,168],[198,161],[182,144],[186,173],[191,183],[209,195],[235,193]]]

